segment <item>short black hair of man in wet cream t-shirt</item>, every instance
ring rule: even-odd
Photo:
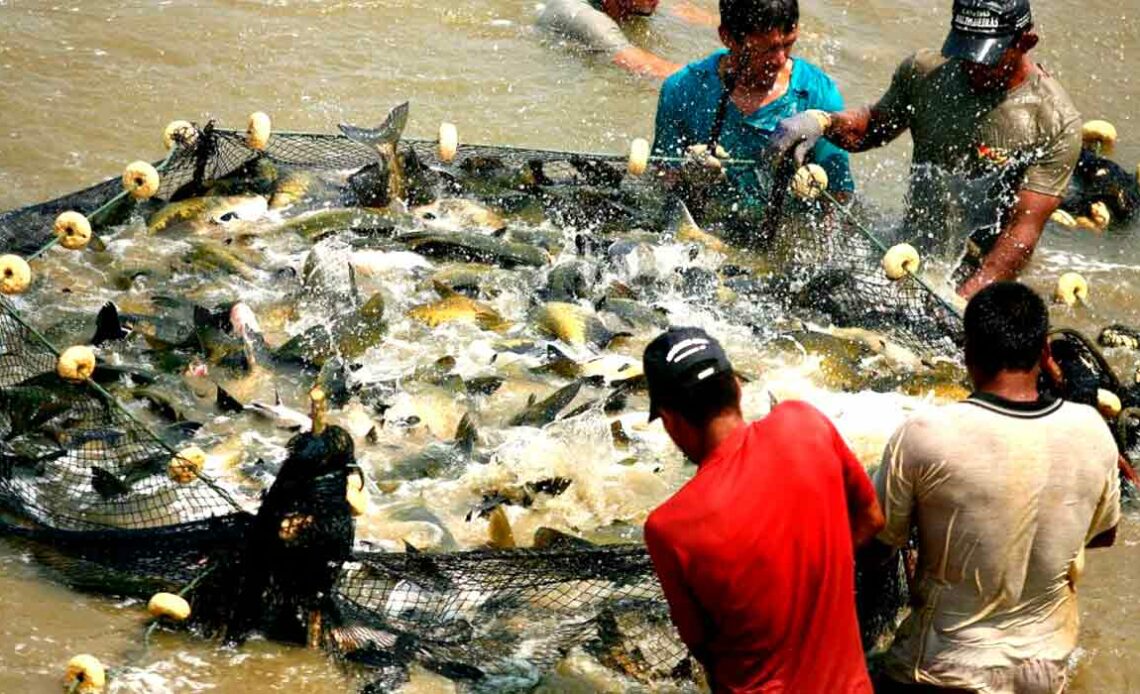
[[[966,364],[986,375],[1028,372],[1041,361],[1049,337],[1049,309],[1016,281],[978,292],[966,307]]]

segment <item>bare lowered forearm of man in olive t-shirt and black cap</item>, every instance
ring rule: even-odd
[[[1060,204],[1059,197],[1032,190],[1019,191],[1009,221],[994,247],[986,254],[977,272],[958,287],[958,293],[969,299],[995,281],[1015,279],[1037,247],[1049,215]]]

